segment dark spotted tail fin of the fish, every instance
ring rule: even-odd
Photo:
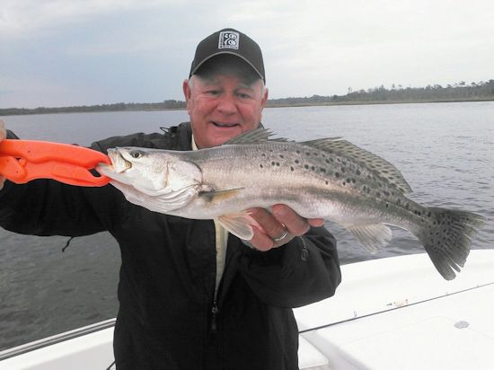
[[[471,238],[486,219],[472,212],[437,207],[425,209],[427,226],[421,226],[416,236],[422,242],[437,271],[452,280],[463,268],[472,245]]]

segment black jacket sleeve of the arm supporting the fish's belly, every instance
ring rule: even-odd
[[[269,305],[298,307],[334,295],[341,281],[336,240],[324,227],[270,251],[245,246],[241,272]]]

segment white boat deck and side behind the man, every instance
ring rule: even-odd
[[[494,250],[453,281],[427,254],[342,266],[334,297],[295,310],[301,369],[494,368]],[[0,352],[0,370],[108,369],[113,321]]]

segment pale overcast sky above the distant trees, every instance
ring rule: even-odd
[[[226,27],[274,99],[494,78],[494,0],[0,0],[0,108],[183,100]]]

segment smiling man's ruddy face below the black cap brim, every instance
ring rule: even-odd
[[[194,76],[184,81],[192,132],[198,148],[222,145],[244,131],[257,128],[268,100],[268,90],[261,80],[244,84],[234,74]]]

